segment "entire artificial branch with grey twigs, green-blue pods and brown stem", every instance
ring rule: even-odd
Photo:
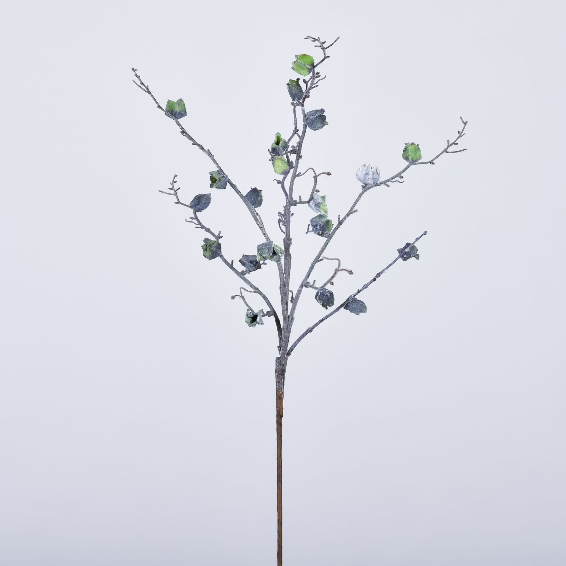
[[[190,208],[192,211],[192,216],[187,218],[187,222],[194,225],[196,229],[201,229],[211,235],[213,239],[204,238],[203,255],[205,258],[212,260],[220,258],[222,263],[226,265],[246,286],[239,288],[239,293],[231,295],[231,299],[236,297],[241,298],[244,305],[247,307],[247,312],[245,316],[245,321],[248,326],[256,327],[256,325],[263,325],[263,317],[273,316],[275,320],[275,325],[277,328],[278,336],[278,357],[275,359],[275,385],[276,385],[276,460],[277,460],[277,566],[282,566],[282,418],[283,418],[283,400],[284,400],[284,387],[285,387],[285,375],[287,371],[288,358],[293,353],[299,342],[310,334],[315,328],[322,324],[325,320],[335,315],[339,310],[348,310],[351,314],[362,314],[367,312],[367,306],[363,301],[357,299],[356,297],[368,288],[373,282],[378,280],[393,264],[399,259],[404,261],[410,258],[419,259],[419,254],[417,247],[414,245],[423,237],[426,232],[421,234],[418,238],[414,240],[412,244],[406,244],[402,248],[398,248],[397,257],[387,265],[384,269],[381,269],[376,275],[368,281],[365,285],[359,288],[355,293],[349,295],[345,301],[334,308],[335,297],[330,286],[335,284],[335,279],[341,272],[349,273],[353,275],[351,269],[342,268],[342,261],[340,258],[330,258],[323,255],[327,247],[329,246],[332,238],[337,233],[338,229],[345,223],[346,220],[356,212],[358,212],[358,204],[361,201],[363,195],[370,191],[374,187],[385,186],[390,187],[393,183],[404,183],[404,174],[414,165],[434,165],[435,161],[444,153],[458,153],[465,151],[465,149],[453,149],[458,145],[458,141],[465,135],[465,128],[468,122],[460,118],[463,124],[461,130],[458,130],[458,135],[453,141],[447,140],[447,144],[444,149],[438,153],[438,155],[432,157],[428,161],[422,161],[422,153],[418,144],[407,143],[402,152],[402,157],[407,161],[407,165],[398,171],[398,173],[391,175],[387,179],[380,179],[380,171],[375,166],[372,167],[370,164],[363,164],[361,168],[358,169],[356,173],[356,178],[361,183],[361,192],[355,198],[354,203],[348,209],[344,216],[337,217],[336,225],[333,225],[332,220],[328,218],[328,204],[326,203],[326,196],[319,194],[318,188],[318,178],[321,175],[330,175],[328,171],[324,173],[316,173],[312,167],[308,167],[302,173],[299,173],[299,167],[303,163],[303,145],[305,142],[307,130],[317,131],[321,128],[328,126],[326,121],[326,116],[324,114],[324,109],[311,109],[307,112],[305,105],[308,100],[310,100],[312,91],[318,88],[321,82],[326,78],[326,76],[321,76],[319,72],[319,67],[324,63],[330,55],[328,55],[328,49],[336,44],[338,38],[331,44],[327,44],[325,41],[321,40],[320,37],[307,36],[307,40],[310,40],[315,45],[315,48],[321,50],[322,58],[320,61],[315,63],[314,57],[309,54],[295,55],[295,61],[292,63],[291,68],[296,73],[294,76],[301,75],[302,80],[297,77],[297,79],[289,79],[286,84],[289,96],[291,98],[291,109],[293,111],[293,130],[289,138],[286,140],[281,137],[281,134],[277,132],[275,136],[275,141],[271,144],[271,148],[268,149],[269,160],[273,166],[273,170],[277,179],[276,183],[280,186],[281,192],[284,196],[284,205],[280,212],[277,213],[277,226],[278,229],[283,234],[283,248],[278,246],[275,242],[269,238],[267,230],[265,229],[264,222],[261,220],[259,213],[256,208],[260,207],[263,197],[261,196],[261,191],[254,187],[246,195],[238,189],[235,183],[230,179],[228,175],[218,164],[215,156],[209,149],[205,149],[203,145],[199,144],[181,125],[179,119],[182,119],[187,115],[185,102],[182,98],[177,101],[168,100],[165,108],[163,108],[158,102],[153,93],[150,91],[147,84],[145,84],[136,69],[132,68],[136,80],[134,84],[147,95],[149,95],[153,102],[155,102],[158,109],[160,109],[168,118],[171,118],[179,127],[181,134],[184,138],[191,142],[204,152],[205,155],[212,161],[216,167],[216,171],[211,171],[210,181],[211,188],[224,189],[226,186],[230,186],[234,192],[238,195],[239,199],[245,204],[251,217],[254,219],[255,224],[258,226],[261,234],[263,235],[264,242],[261,242],[257,246],[257,253],[255,255],[242,255],[242,259],[239,263],[245,268],[243,271],[238,271],[234,267],[234,261],[229,261],[222,254],[222,246],[220,244],[220,239],[222,235],[220,231],[215,233],[208,226],[204,225],[200,220],[198,213],[203,211],[211,204],[211,194],[198,194],[190,201],[190,204],[183,202],[179,198],[180,187],[177,187],[177,175],[173,177],[171,181],[170,189],[167,191],[160,191],[163,194],[173,196],[174,203],[182,205],[183,207]],[[317,91],[318,92],[318,91]],[[299,123],[299,113],[301,117],[301,123]],[[311,134],[309,134],[310,136]],[[309,137],[310,139],[310,137]],[[302,168],[302,167],[301,167]],[[308,198],[304,199],[301,195],[295,198],[295,193],[297,188],[295,187],[295,182],[299,177],[303,177],[309,171],[312,171],[312,187],[310,189],[310,194]],[[278,191],[277,191],[278,192]],[[316,254],[314,260],[307,269],[305,277],[302,278],[297,291],[293,293],[290,289],[290,278],[291,278],[291,246],[293,241],[291,239],[291,221],[293,219],[293,212],[291,209],[298,206],[299,204],[307,204],[308,208],[315,211],[316,216],[310,219],[310,224],[307,227],[307,233],[313,233],[319,237],[324,238],[324,243],[321,245],[319,252]],[[333,269],[333,272],[329,274],[327,280],[324,281],[322,285],[316,285],[316,280],[310,281],[310,277],[314,271],[316,264],[321,261],[336,261],[337,264]],[[264,265],[270,265],[273,261],[277,264],[277,270],[279,275],[279,293],[281,300],[281,312],[277,314],[275,308],[273,308],[272,303],[269,301],[267,295],[263,293],[256,285],[252,284],[250,279],[247,277],[250,273],[257,271]],[[290,336],[295,318],[295,311],[298,306],[299,299],[301,298],[302,290],[305,288],[311,288],[316,291],[315,301],[323,308],[332,308],[327,315],[319,319],[308,327],[305,332],[303,332],[297,340],[290,344]],[[248,302],[247,293],[259,295],[268,307],[267,312],[263,312],[263,309],[258,311],[251,307],[250,302]],[[254,302],[254,301],[251,301]]]

